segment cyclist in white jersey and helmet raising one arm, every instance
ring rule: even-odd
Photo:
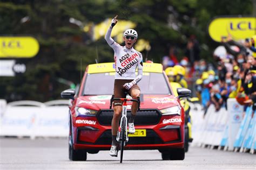
[[[137,83],[142,80],[143,75],[143,60],[142,54],[133,48],[134,43],[138,38],[135,30],[128,29],[124,32],[125,46],[120,46],[111,38],[113,26],[117,24],[117,16],[112,19],[111,25],[106,32],[105,40],[107,44],[114,50],[114,65],[116,68],[114,80],[114,97],[125,98],[127,92],[132,98],[137,99],[140,95],[140,89]],[[138,75],[136,76],[136,68],[138,67]],[[117,155],[117,131],[119,119],[122,115],[122,101],[114,101],[114,115],[112,119],[112,146],[110,155]],[[138,109],[138,103],[133,102],[131,108],[131,117],[129,119],[129,133],[134,133],[134,118]]]

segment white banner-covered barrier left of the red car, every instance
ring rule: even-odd
[[[8,103],[1,115],[0,136],[68,137],[69,101]]]

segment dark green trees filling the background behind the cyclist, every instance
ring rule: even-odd
[[[1,34],[33,36],[40,50],[35,58],[19,59],[27,67],[23,75],[1,77],[0,98],[42,102],[57,99],[61,91],[70,88],[57,80],[79,83],[81,65],[84,72],[95,60],[112,62],[113,51],[104,38],[93,41],[92,31],[83,31],[83,26],[90,23],[98,24],[116,15],[136,23],[139,38],[149,40],[151,45],[150,52],[142,52],[144,59],[154,62],[168,54],[170,45],[178,48],[181,58],[187,39],[194,34],[201,45],[201,58],[211,61],[218,44],[208,36],[207,25],[217,16],[251,15],[252,6],[250,0],[2,1]],[[22,23],[24,17],[29,19]],[[70,23],[70,18],[82,25]]]

